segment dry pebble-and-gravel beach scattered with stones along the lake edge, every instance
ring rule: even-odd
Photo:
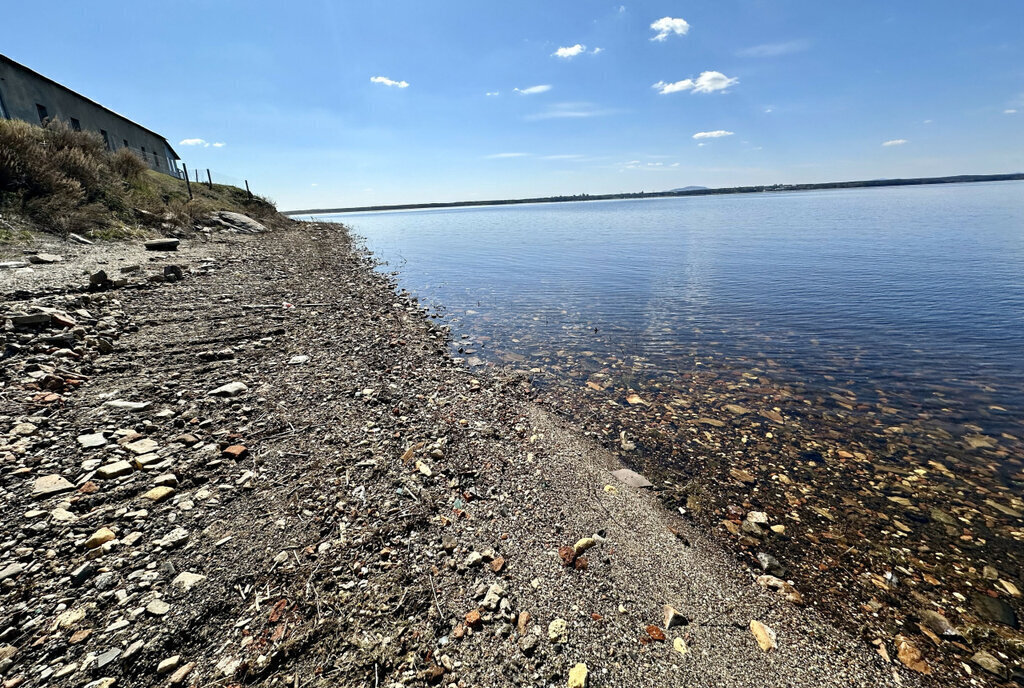
[[[0,272],[4,688],[919,681],[338,225],[37,249]]]

